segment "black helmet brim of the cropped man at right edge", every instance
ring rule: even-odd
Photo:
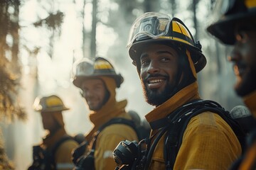
[[[211,24],[206,29],[210,34],[214,35],[226,45],[235,44],[235,23],[246,21],[256,17],[256,8],[247,13],[236,13],[230,16],[220,18],[216,23]]]

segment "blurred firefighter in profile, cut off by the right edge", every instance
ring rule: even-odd
[[[237,77],[234,89],[256,119],[256,0],[223,0],[215,7],[220,18],[207,30],[225,45],[233,45],[228,59]],[[246,154],[231,169],[256,169],[256,130],[251,130],[247,142]]]

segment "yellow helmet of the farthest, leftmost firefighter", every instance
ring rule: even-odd
[[[55,95],[46,96],[39,98],[37,97],[33,103],[33,108],[35,111],[41,112],[56,112],[56,111],[66,111],[63,101]]]

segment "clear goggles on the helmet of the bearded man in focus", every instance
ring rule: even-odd
[[[166,35],[169,31],[170,23],[171,18],[164,13],[145,13],[132,24],[127,48],[132,46],[134,40],[156,39]]]

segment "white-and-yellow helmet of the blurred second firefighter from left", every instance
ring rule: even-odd
[[[73,65],[73,84],[81,87],[82,81],[93,77],[111,77],[119,87],[124,78],[117,74],[112,64],[105,58],[96,57],[95,61],[83,58]]]

